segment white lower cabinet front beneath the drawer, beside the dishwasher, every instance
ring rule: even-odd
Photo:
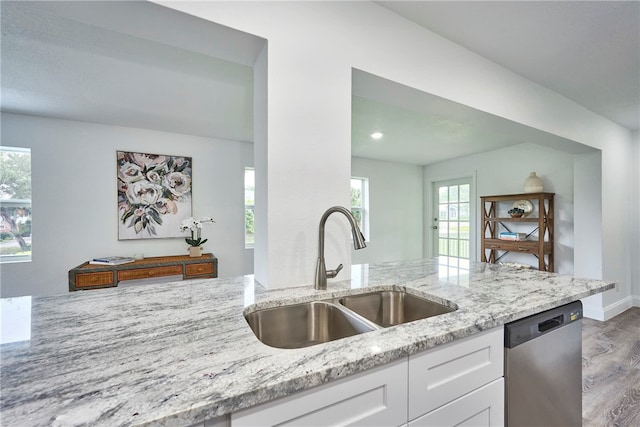
[[[504,426],[504,379],[497,379],[409,423],[409,427],[435,426]]]

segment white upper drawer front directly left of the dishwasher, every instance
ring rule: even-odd
[[[409,420],[502,377],[504,328],[409,357]]]

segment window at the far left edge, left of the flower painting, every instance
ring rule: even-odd
[[[0,147],[0,262],[31,261],[31,150]]]

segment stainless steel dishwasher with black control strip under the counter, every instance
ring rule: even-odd
[[[505,325],[505,421],[582,426],[582,303]]]

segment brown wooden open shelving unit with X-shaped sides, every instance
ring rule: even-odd
[[[509,252],[531,254],[538,258],[538,270],[554,271],[553,265],[553,197],[555,193],[523,193],[480,197],[482,206],[481,260],[496,263]],[[533,212],[522,218],[511,218],[506,212],[513,202],[528,200]],[[511,204],[507,204],[511,202]],[[514,224],[530,225],[527,236],[537,240],[500,240],[500,231],[521,232]],[[520,227],[522,228],[522,227]]]

